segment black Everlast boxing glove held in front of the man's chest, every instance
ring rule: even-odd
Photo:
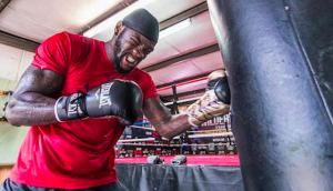
[[[113,80],[89,92],[61,97],[54,105],[59,122],[87,118],[120,118],[125,125],[133,124],[141,113],[143,96],[132,81]]]

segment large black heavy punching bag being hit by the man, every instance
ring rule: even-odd
[[[333,0],[208,0],[246,191],[333,191]]]

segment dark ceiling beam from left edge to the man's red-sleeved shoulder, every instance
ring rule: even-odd
[[[23,49],[30,52],[34,52],[34,50],[39,47],[40,43],[34,42],[32,40],[28,40],[18,36],[13,36],[3,31],[0,31],[0,43],[16,47],[19,49]]]

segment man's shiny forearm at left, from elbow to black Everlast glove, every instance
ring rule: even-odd
[[[12,125],[47,125],[58,122],[54,115],[56,99],[34,92],[13,96],[6,109]]]

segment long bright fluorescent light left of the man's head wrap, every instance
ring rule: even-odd
[[[127,7],[125,9],[117,12],[115,14],[111,16],[110,18],[103,20],[102,22],[98,23],[97,26],[92,27],[88,31],[83,33],[84,37],[93,37],[94,34],[115,26],[115,23],[120,20],[122,20],[125,16],[133,12],[134,10],[139,8],[144,8],[154,0],[138,0],[133,2],[131,6]]]

